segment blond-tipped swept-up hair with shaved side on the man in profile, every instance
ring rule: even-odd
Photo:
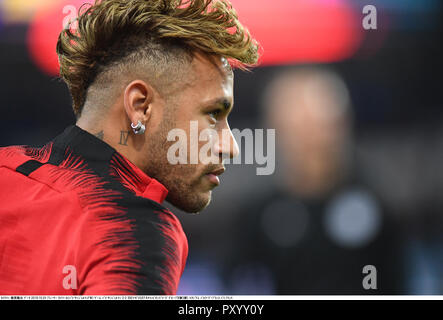
[[[128,72],[143,72],[161,87],[196,51],[242,69],[259,57],[228,0],[96,0],[80,8],[77,23],[57,43],[60,77],[77,117],[92,87],[100,92]]]

